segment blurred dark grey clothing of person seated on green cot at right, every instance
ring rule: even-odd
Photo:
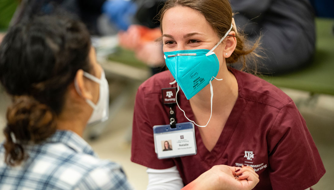
[[[262,32],[264,74],[303,67],[315,50],[314,10],[309,0],[230,0],[235,23],[256,40]],[[251,64],[251,63],[249,63]]]

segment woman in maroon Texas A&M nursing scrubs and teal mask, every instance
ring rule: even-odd
[[[169,71],[139,87],[133,120],[131,160],[148,167],[147,189],[181,189],[219,164],[253,167],[260,179],[254,189],[316,184],[325,169],[294,102],[272,84],[230,67],[238,60],[245,69],[256,62],[260,40],[247,45],[228,0],[168,0],[160,22]],[[194,123],[197,154],[158,159],[153,126],[170,123],[173,108],[163,104],[162,89],[172,87],[175,119]]]

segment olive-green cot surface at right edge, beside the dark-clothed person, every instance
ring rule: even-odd
[[[262,76],[278,87],[334,95],[334,19],[316,19],[316,52],[302,70],[280,76]]]

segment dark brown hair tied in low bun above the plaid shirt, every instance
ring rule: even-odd
[[[0,45],[0,82],[12,97],[7,109],[5,162],[14,166],[57,128],[77,70],[91,71],[90,34],[68,15],[34,16],[13,25]]]

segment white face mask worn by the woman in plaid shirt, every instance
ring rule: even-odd
[[[96,83],[99,83],[100,85],[98,103],[95,105],[92,102],[92,100],[86,99],[86,102],[93,108],[93,113],[88,120],[88,124],[104,122],[108,119],[108,116],[109,116],[109,85],[106,79],[106,75],[104,71],[102,70],[101,79],[87,72],[84,72],[83,76],[87,77],[88,79]],[[76,92],[81,95],[81,92],[78,88],[76,80],[74,81],[74,86],[75,86]]]

